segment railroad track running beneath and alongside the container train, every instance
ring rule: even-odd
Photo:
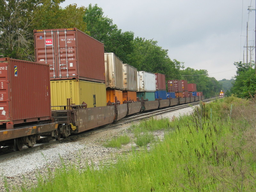
[[[206,99],[206,100],[203,100],[203,102],[208,102],[208,101],[215,100],[215,99],[216,98]],[[147,118],[150,118],[151,116],[156,116],[156,115],[161,115],[161,114],[177,111],[179,109],[183,109],[183,108],[187,108],[187,107],[190,107],[190,106],[198,105],[199,103],[200,103],[200,101],[196,101],[196,102],[193,102],[193,103],[187,103],[187,104],[183,104],[183,105],[179,105],[179,106],[166,107],[166,108],[161,108],[161,109],[150,110],[150,111],[147,111],[147,112],[142,112],[142,113],[139,113],[137,115],[124,117],[123,119],[120,119],[119,121],[114,122],[112,124],[108,124],[108,125],[104,125],[104,126],[101,126],[101,127],[98,127],[98,128],[94,128],[94,129],[88,130],[88,131],[83,132],[83,133],[74,134],[74,135],[71,135],[67,138],[63,138],[63,139],[57,140],[57,141],[54,140],[54,139],[50,139],[50,138],[43,138],[44,140],[48,140],[48,142],[40,143],[40,144],[38,144],[38,145],[36,145],[32,148],[24,148],[21,151],[14,151],[14,152],[3,154],[3,155],[0,156],[0,160],[7,159],[7,158],[10,158],[10,157],[14,157],[14,156],[18,156],[18,155],[22,155],[22,154],[26,154],[26,153],[33,152],[33,151],[36,151],[36,150],[39,150],[39,149],[47,148],[49,146],[52,146],[52,145],[58,144],[58,143],[62,143],[62,142],[70,142],[70,141],[81,140],[84,137],[86,137],[88,135],[91,135],[93,133],[102,132],[102,131],[105,131],[105,130],[108,130],[108,129],[111,129],[111,128],[117,128],[117,127],[122,126],[124,124],[140,121],[142,119],[147,119]],[[10,149],[12,149],[12,148],[10,148]]]

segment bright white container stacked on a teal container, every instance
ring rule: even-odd
[[[137,97],[140,99],[155,100],[156,76],[146,71],[137,72]]]

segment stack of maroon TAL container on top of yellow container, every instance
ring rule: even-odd
[[[106,106],[104,44],[76,28],[34,30],[34,40],[36,62],[50,66],[52,106]]]

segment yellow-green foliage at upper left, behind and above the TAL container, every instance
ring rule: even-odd
[[[0,48],[4,57],[34,61],[33,29],[86,29],[85,7],[62,9],[64,0],[0,0]]]

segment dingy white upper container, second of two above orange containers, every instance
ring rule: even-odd
[[[135,67],[124,63],[123,78],[124,90],[137,91],[137,69]]]

